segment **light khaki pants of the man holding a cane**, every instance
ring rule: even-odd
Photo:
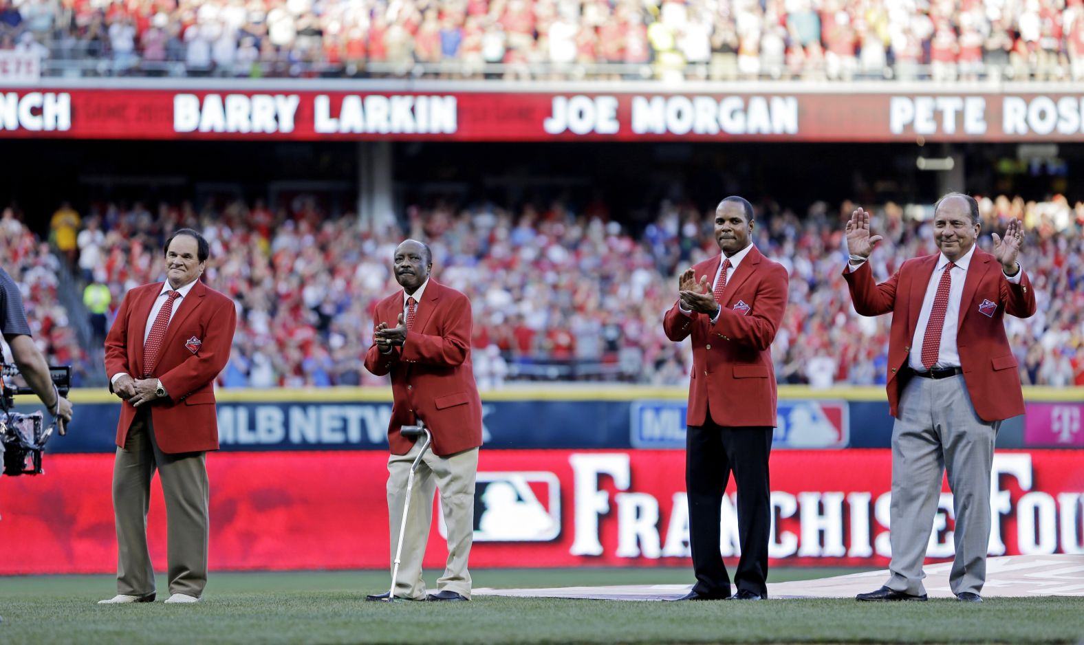
[[[403,520],[406,500],[406,480],[410,466],[417,457],[424,440],[414,442],[406,454],[392,454],[388,459],[388,517],[391,525],[391,566],[399,544],[399,527]],[[467,557],[474,542],[474,490],[478,473],[478,449],[473,448],[448,456],[426,450],[414,474],[403,550],[396,579],[397,597],[425,599],[425,581],[422,580],[422,558],[429,541],[433,523],[433,496],[440,490],[440,504],[448,525],[448,564],[444,575],[437,580],[437,591],[454,591],[470,597],[470,572]]]

